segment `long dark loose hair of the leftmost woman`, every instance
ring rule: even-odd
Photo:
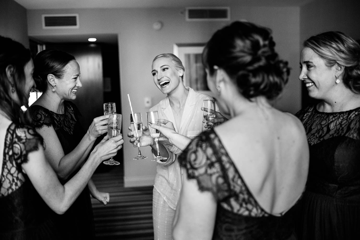
[[[21,106],[28,107],[28,97],[24,94],[24,67],[31,60],[30,50],[11,38],[0,36],[0,108],[14,123],[29,124],[30,120],[23,114]],[[13,86],[6,75],[6,67],[13,66]],[[19,103],[15,102],[9,91],[15,89]]]

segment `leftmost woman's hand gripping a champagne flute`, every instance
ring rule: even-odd
[[[114,157],[122,148],[124,140],[122,139],[122,134],[117,135],[109,139],[109,136],[106,135],[101,142],[95,146],[91,154],[97,154],[100,157],[101,161],[107,160],[111,157]]]

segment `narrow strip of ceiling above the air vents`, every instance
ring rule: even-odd
[[[300,6],[312,0],[15,0],[26,9],[65,8],[177,8],[243,5]]]

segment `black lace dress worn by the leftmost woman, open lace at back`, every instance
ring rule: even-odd
[[[50,208],[22,170],[42,138],[29,126],[6,130],[0,191],[0,239],[57,239]],[[34,160],[36,161],[36,160]]]

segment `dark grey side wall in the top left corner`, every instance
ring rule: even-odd
[[[0,35],[29,47],[26,9],[13,0],[0,0]]]

